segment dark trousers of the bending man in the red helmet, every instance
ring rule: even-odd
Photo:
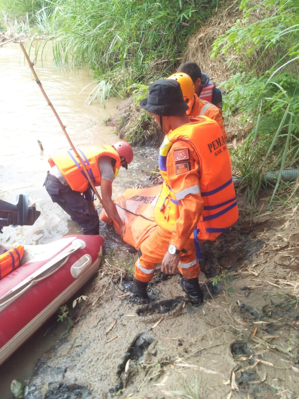
[[[73,220],[83,227],[83,234],[99,234],[98,213],[79,192],[72,190],[69,185],[62,184],[49,172],[47,172],[44,186],[52,201],[58,203]]]

